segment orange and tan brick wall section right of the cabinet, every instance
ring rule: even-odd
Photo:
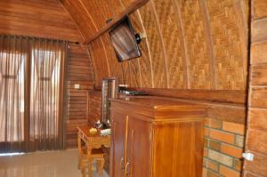
[[[245,126],[206,118],[203,177],[239,177]]]

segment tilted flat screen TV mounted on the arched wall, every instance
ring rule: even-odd
[[[130,60],[141,56],[140,49],[135,40],[134,29],[128,16],[109,30],[111,43],[118,61]]]

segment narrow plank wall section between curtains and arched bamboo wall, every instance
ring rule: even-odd
[[[85,46],[69,44],[65,77],[66,148],[77,147],[77,126],[87,125],[88,93],[93,90],[93,68]],[[80,89],[75,89],[75,84]]]

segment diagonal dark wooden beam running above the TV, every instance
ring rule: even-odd
[[[119,14],[117,14],[117,16],[114,17],[111,21],[109,21],[107,25],[105,25],[103,28],[98,30],[98,32],[93,34],[93,36],[90,36],[88,39],[86,39],[84,44],[91,43],[94,39],[98,38],[103,33],[109,31],[109,29],[112,28],[114,25],[117,25],[117,23],[119,23],[125,17],[125,15],[133,13],[134,11],[136,11],[137,9],[142,7],[142,5],[148,3],[149,1],[150,0],[134,0],[131,4],[129,4],[125,8],[123,12],[120,12]]]

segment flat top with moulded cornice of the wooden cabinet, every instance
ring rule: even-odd
[[[130,106],[130,107],[129,107]],[[131,112],[152,119],[177,117],[206,117],[206,106],[157,96],[129,96],[111,99],[111,109]],[[129,109],[131,109],[129,111]]]

